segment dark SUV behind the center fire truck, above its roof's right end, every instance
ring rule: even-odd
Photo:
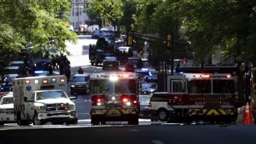
[[[125,71],[133,72],[136,68],[143,68],[144,64],[141,57],[129,57],[125,64]]]

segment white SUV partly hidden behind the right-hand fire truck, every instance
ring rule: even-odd
[[[155,92],[148,103],[148,114],[161,122],[174,116],[174,109],[167,105],[167,92]]]

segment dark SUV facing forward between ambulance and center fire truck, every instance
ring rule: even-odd
[[[76,74],[74,75],[70,85],[70,95],[74,93],[87,94],[87,81],[90,79],[90,75]]]

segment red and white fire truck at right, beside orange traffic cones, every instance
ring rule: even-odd
[[[168,106],[178,122],[230,123],[236,120],[235,85],[230,74],[167,76]]]

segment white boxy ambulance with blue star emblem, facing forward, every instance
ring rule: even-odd
[[[13,79],[14,118],[18,125],[77,124],[75,104],[67,96],[66,76]]]

